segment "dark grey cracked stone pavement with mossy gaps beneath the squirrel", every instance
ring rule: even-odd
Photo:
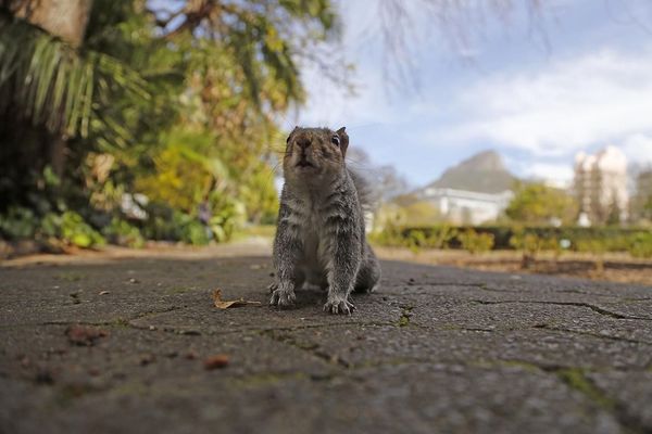
[[[651,288],[386,261],[335,317],[266,306],[269,263],[0,268],[0,432],[652,433]]]

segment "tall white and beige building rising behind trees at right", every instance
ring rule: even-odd
[[[579,202],[580,219],[605,224],[617,206],[619,220],[627,218],[627,157],[615,146],[597,154],[580,152],[575,156],[574,190]]]

